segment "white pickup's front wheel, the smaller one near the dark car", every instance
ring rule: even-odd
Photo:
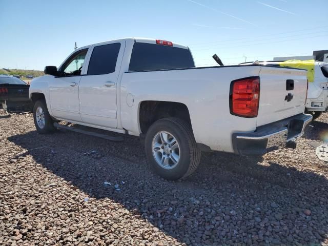
[[[36,101],[33,108],[34,125],[37,132],[41,134],[51,133],[55,130],[45,100]]]

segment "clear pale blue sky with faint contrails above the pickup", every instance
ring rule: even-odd
[[[77,46],[121,37],[187,45],[197,66],[328,49],[327,0],[0,0],[0,68],[58,66]]]

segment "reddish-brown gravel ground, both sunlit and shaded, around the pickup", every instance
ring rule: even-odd
[[[0,244],[328,244],[328,163],[309,144],[328,140],[328,114],[313,125],[296,150],[203,154],[174,182],[149,170],[138,138],[39,135],[32,114],[1,111]]]

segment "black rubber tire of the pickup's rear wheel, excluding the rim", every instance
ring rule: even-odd
[[[179,145],[180,159],[172,169],[161,167],[153,154],[153,139],[161,131],[172,134]],[[191,175],[197,169],[200,161],[200,150],[192,129],[179,118],[163,118],[155,121],[147,131],[145,150],[148,162],[155,173],[168,180],[177,180]]]

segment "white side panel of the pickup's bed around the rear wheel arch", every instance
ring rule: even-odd
[[[257,76],[259,71],[259,66],[239,66],[124,73],[120,84],[121,125],[139,135],[142,101],[178,102],[188,107],[198,143],[233,152],[231,134],[254,131],[256,118],[230,114],[230,84],[234,79]],[[131,97],[134,103],[129,107],[127,98]]]

